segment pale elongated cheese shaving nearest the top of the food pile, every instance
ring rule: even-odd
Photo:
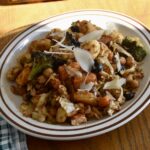
[[[90,40],[98,40],[101,38],[103,33],[104,33],[104,30],[95,30],[95,31],[92,31],[92,32],[80,37],[78,39],[78,41],[82,43],[82,42],[87,42]]]

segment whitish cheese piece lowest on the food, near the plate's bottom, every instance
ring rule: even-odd
[[[75,106],[73,103],[71,103],[69,100],[66,98],[60,98],[59,103],[61,107],[66,111],[67,115],[69,115],[71,112],[75,110]]]

